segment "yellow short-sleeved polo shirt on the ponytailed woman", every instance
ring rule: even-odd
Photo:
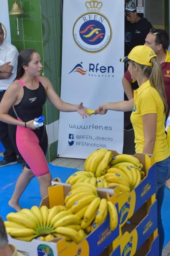
[[[153,155],[155,162],[159,162],[170,155],[165,134],[164,105],[158,91],[147,80],[134,91],[134,110],[131,114],[131,123],[135,132],[136,153],[143,153],[144,133],[142,116],[150,113],[157,114],[157,130]]]

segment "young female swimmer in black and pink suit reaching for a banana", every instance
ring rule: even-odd
[[[82,118],[87,117],[87,108],[82,105],[82,102],[79,105],[73,105],[60,99],[49,79],[40,76],[41,69],[38,52],[32,49],[22,50],[18,56],[16,79],[0,102],[0,120],[17,125],[17,147],[27,163],[9,200],[9,206],[16,211],[21,210],[18,203],[20,196],[34,176],[38,178],[42,198],[48,195],[48,187],[51,185],[51,174],[45,158],[48,146],[46,126],[43,125],[37,129],[33,125],[34,118],[42,115],[46,97],[59,111],[77,111]],[[11,106],[18,120],[8,115]]]

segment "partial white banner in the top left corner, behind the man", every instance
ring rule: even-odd
[[[8,1],[0,0],[1,11],[0,11],[0,23],[2,23],[2,27],[4,30],[4,37],[6,41],[11,43],[11,34],[10,34],[10,26],[9,26],[9,11],[8,11]],[[11,5],[12,8],[12,5]]]

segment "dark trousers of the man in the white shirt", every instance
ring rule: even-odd
[[[0,92],[0,101],[4,95],[5,91]],[[16,118],[16,114],[11,108],[8,114]],[[0,121],[0,141],[5,148],[4,160],[6,161],[16,161],[16,155],[20,154],[16,146],[16,125],[6,124]],[[22,157],[21,157],[22,158]]]

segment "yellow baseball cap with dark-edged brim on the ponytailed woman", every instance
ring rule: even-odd
[[[138,45],[131,50],[128,56],[121,58],[120,61],[125,62],[128,60],[133,60],[136,63],[142,64],[142,65],[152,66],[152,63],[150,62],[150,60],[153,57],[157,57],[157,55],[150,47],[146,45]]]

